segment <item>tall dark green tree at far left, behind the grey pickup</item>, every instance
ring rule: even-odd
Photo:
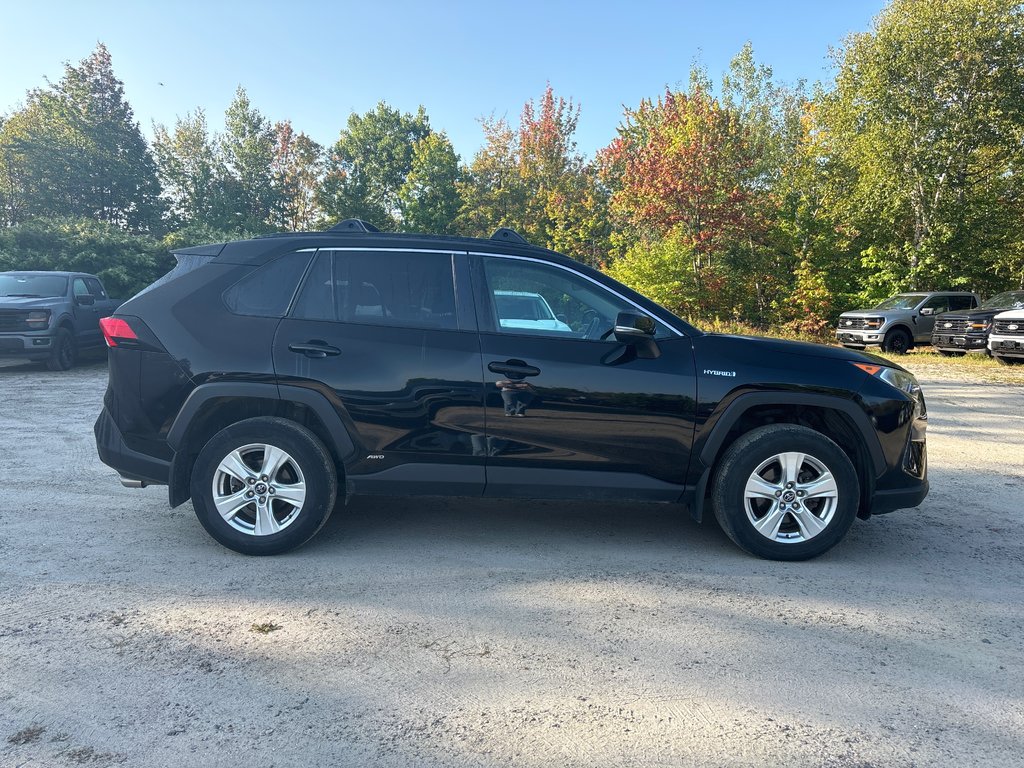
[[[0,158],[8,222],[61,215],[159,225],[156,167],[102,43],[29,92],[0,129]]]

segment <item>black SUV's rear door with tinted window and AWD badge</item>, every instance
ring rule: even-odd
[[[459,310],[460,258],[465,268],[451,251],[321,249],[278,329],[279,380],[347,414],[359,493],[483,490],[480,350],[472,304]]]

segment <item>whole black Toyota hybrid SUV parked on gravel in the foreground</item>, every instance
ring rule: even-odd
[[[176,256],[103,321],[96,444],[240,552],[377,494],[710,506],[743,549],[799,560],[928,493],[900,367],[701,333],[508,229],[347,220]]]

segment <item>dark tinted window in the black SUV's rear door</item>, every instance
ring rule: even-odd
[[[457,329],[446,253],[321,251],[292,316]]]

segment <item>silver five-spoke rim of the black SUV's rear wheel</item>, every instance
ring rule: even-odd
[[[271,536],[295,522],[306,500],[298,462],[276,445],[255,442],[225,456],[213,474],[220,517],[249,536]]]

